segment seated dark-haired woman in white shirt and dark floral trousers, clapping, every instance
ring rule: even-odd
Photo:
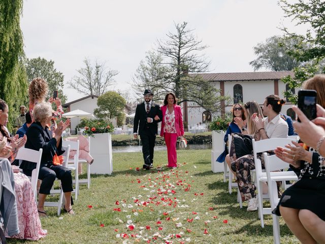
[[[251,120],[256,127],[254,139],[265,140],[269,138],[286,138],[288,134],[288,125],[280,117],[282,105],[285,103],[277,95],[268,96],[263,104],[263,114],[267,117],[262,119],[261,115],[254,113]],[[262,154],[257,155],[264,168]],[[247,201],[247,211],[257,210],[258,202],[255,194],[255,185],[252,183],[250,170],[255,169],[254,156],[246,155],[232,161],[232,169],[236,171],[238,188],[243,201]]]

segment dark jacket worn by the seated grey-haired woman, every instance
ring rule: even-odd
[[[26,132],[27,141],[25,144],[25,148],[40,150],[43,149],[41,166],[45,164],[52,164],[53,156],[55,153],[57,156],[62,155],[64,151],[61,149],[62,147],[62,138],[60,138],[59,146],[56,147],[56,139],[52,138],[52,132],[45,127],[43,129],[41,123],[34,122],[30,125]],[[36,168],[36,164],[23,160],[21,165],[21,169],[32,170]]]

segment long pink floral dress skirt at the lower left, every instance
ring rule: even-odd
[[[42,229],[30,180],[23,173],[14,173],[14,177],[20,232],[10,238],[38,240],[45,237],[47,231]]]

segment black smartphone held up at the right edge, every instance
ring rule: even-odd
[[[309,120],[317,117],[316,112],[317,92],[315,90],[299,90],[298,107]],[[298,117],[298,121],[300,119]]]

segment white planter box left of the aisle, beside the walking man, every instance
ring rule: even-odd
[[[90,154],[93,164],[90,165],[92,174],[112,174],[112,136],[110,133],[93,134],[90,142]]]

